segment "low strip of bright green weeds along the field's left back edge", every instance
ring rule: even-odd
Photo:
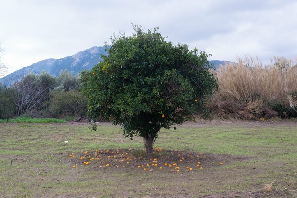
[[[0,120],[0,123],[66,123],[66,121],[56,118],[17,117],[15,119]]]

